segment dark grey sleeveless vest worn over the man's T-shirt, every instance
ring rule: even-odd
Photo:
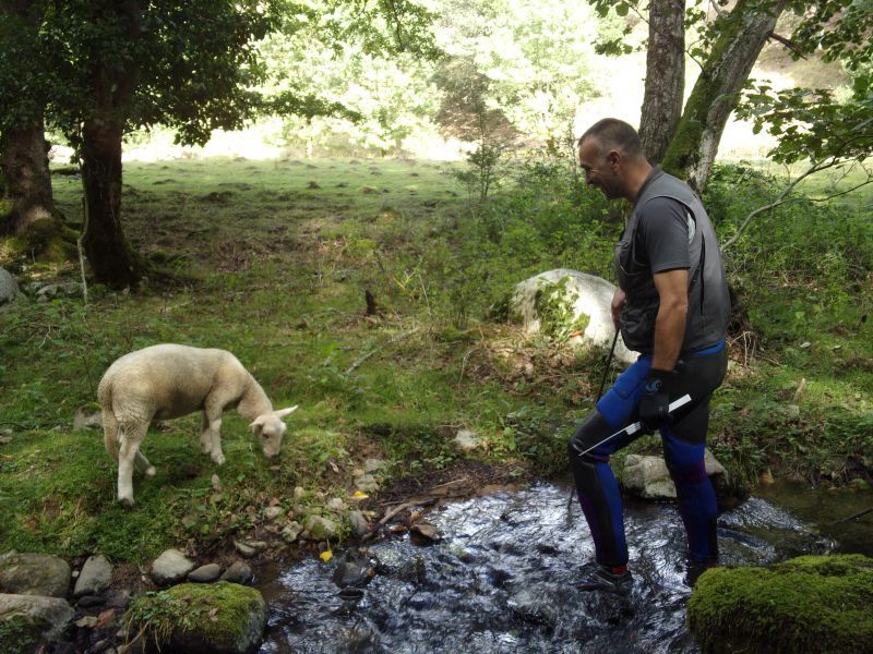
[[[689,313],[682,352],[693,352],[716,344],[725,336],[730,316],[730,298],[718,240],[709,216],[699,198],[683,181],[655,168],[647,178],[621,241],[615,247],[615,272],[619,287],[627,295],[621,314],[621,335],[627,349],[651,353],[655,343],[655,318],[660,300],[655,288],[647,257],[637,256],[643,249],[637,226],[646,219],[646,204],[655,197],[670,197],[689,213]]]

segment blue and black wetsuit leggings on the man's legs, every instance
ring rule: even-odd
[[[573,476],[582,510],[588,520],[595,543],[596,559],[610,567],[627,565],[619,483],[609,467],[609,457],[638,438],[623,436],[594,449],[584,457],[578,452],[599,443],[621,427],[637,420],[637,405],[651,366],[651,356],[641,356],[624,371],[603,395],[569,444]],[[727,370],[723,341],[683,354],[677,363],[678,377],[671,384],[670,400],[691,395],[695,404],[677,423],[660,427],[667,468],[675,483],[679,508],[693,559],[706,560],[718,555],[716,541],[716,496],[704,468],[706,431],[709,425],[709,399]]]

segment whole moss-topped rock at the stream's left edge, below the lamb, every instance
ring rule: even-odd
[[[266,628],[260,591],[237,583],[181,583],[137,597],[125,615],[144,644],[179,654],[256,652]]]

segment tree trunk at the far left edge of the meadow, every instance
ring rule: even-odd
[[[4,181],[0,230],[22,234],[39,220],[56,220],[43,120],[0,137]]]

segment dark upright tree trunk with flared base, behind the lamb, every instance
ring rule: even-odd
[[[135,288],[143,263],[124,238],[121,227],[120,119],[87,120],[83,129],[82,179],[86,225],[82,239],[97,281],[115,289]]]

